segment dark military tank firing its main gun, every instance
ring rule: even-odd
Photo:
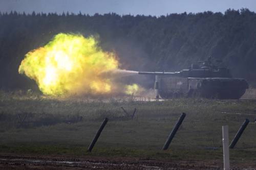
[[[226,67],[218,67],[209,57],[178,72],[139,72],[156,75],[156,98],[240,99],[248,88],[245,79],[232,78]]]

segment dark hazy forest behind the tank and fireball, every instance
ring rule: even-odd
[[[103,50],[116,53],[123,69],[177,71],[211,56],[233,77],[256,86],[256,14],[248,9],[159,17],[10,12],[0,13],[0,26],[2,90],[37,88],[18,74],[18,66],[58,33],[96,37]]]

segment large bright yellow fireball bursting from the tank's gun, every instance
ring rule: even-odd
[[[94,37],[60,33],[27,53],[18,71],[35,80],[44,94],[105,94],[113,84],[101,74],[117,68],[115,55],[103,52]]]

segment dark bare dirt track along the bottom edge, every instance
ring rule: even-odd
[[[254,168],[252,168],[252,166]],[[256,169],[240,164],[232,169]],[[0,155],[0,169],[222,169],[220,161],[172,161],[136,158]]]

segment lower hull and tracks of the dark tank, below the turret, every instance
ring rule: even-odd
[[[163,99],[208,98],[240,99],[248,88],[244,79],[234,78],[161,78],[159,94]]]

